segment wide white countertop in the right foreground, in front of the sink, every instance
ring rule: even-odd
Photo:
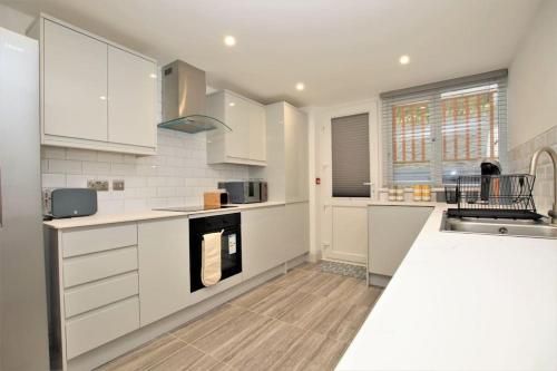
[[[557,241],[440,232],[446,207],[336,370],[557,370]]]

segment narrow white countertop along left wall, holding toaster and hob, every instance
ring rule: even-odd
[[[114,224],[114,223],[126,223],[126,222],[137,222],[137,221],[148,221],[166,217],[177,217],[177,216],[189,216],[198,214],[222,214],[222,213],[233,213],[243,209],[257,208],[257,207],[271,207],[280,206],[285,203],[281,202],[265,202],[265,203],[254,203],[254,204],[232,204],[235,207],[217,208],[217,209],[206,209],[198,212],[165,212],[165,211],[139,211],[131,213],[121,214],[95,214],[91,216],[82,217],[70,217],[63,219],[53,219],[43,222],[46,226],[55,230],[66,230],[66,228],[78,228],[87,227],[102,224]]]

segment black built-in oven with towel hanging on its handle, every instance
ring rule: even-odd
[[[203,235],[223,231],[221,238],[221,280],[242,272],[242,232],[240,213],[189,219],[190,292],[205,287],[202,283]]]

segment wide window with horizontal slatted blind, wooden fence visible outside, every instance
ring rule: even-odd
[[[507,71],[391,91],[382,98],[385,185],[453,183],[483,158],[505,168]]]

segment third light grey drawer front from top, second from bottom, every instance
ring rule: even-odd
[[[139,292],[137,272],[69,289],[63,294],[66,318],[115,303]]]

